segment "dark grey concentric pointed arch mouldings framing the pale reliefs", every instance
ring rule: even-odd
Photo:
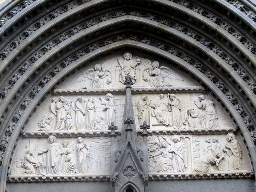
[[[8,21],[2,22],[0,37],[5,38],[2,38],[1,41],[3,42],[3,44],[1,44],[1,53],[6,49],[6,47],[13,45],[13,39],[15,39],[15,37],[18,37],[18,33],[13,33],[13,36],[12,33],[9,33],[11,28],[14,27],[15,24],[17,24],[17,21],[24,19],[26,15],[29,15],[29,13],[32,13],[37,8],[40,9],[41,6],[44,6],[44,4],[49,1],[29,2],[31,3],[18,11]],[[128,2],[129,4],[129,1],[125,2]],[[83,11],[92,8],[97,9],[98,5],[100,6],[104,3],[107,3],[106,0],[88,2],[83,1],[83,3],[78,3],[72,9],[67,9],[66,12],[57,15],[52,20],[36,29],[16,47],[13,46],[14,48],[12,49],[12,51],[10,51],[5,58],[2,58],[2,60],[0,61],[0,86],[2,93],[4,93],[2,94],[4,95],[4,97],[2,97],[0,105],[0,186],[2,191],[5,189],[8,166],[10,163],[10,159],[12,158],[15,144],[17,143],[17,140],[22,133],[22,129],[29,121],[29,117],[31,117],[37,106],[39,106],[40,103],[47,97],[47,95],[53,91],[54,86],[58,85],[68,75],[71,75],[80,67],[86,66],[88,62],[92,60],[97,60],[97,58],[99,57],[104,57],[104,55],[106,54],[122,50],[124,48],[139,51],[141,50],[145,53],[155,54],[157,57],[161,59],[166,59],[172,64],[179,66],[180,68],[184,69],[188,74],[198,79],[199,82],[202,82],[202,84],[223,105],[225,110],[228,111],[228,113],[230,113],[230,115],[234,119],[237,128],[239,129],[239,131],[241,131],[243,138],[245,139],[251,161],[255,168],[256,153],[252,137],[255,138],[254,133],[256,127],[256,96],[255,88],[253,88],[252,84],[255,84],[256,80],[256,57],[254,52],[246,46],[250,44],[255,48],[255,42],[253,40],[253,37],[256,32],[256,28],[255,22],[253,20],[253,10],[249,10],[247,6],[244,6],[245,8],[242,9],[243,11],[241,13],[241,10],[239,11],[237,8],[230,8],[229,3],[226,1],[211,2],[221,6],[224,9],[223,12],[225,12],[225,10],[229,10],[230,12],[232,12],[232,14],[240,19],[242,24],[246,24],[248,27],[251,28],[251,34],[248,35],[248,37],[244,37],[249,39],[248,41],[245,41],[248,43],[245,45],[245,43],[237,40],[234,35],[230,34],[227,30],[221,28],[210,19],[207,19],[205,15],[202,15],[195,11],[191,11],[191,7],[193,6],[185,7],[186,4],[182,5],[181,1],[172,2],[167,0],[156,0],[147,2],[151,4],[157,4],[159,6],[166,6],[167,8],[172,9],[177,14],[179,13],[182,16],[188,16],[189,18],[196,20],[196,22],[199,23],[198,25],[191,25],[179,20],[176,21],[177,23],[179,22],[181,26],[184,25],[185,27],[191,27],[191,30],[194,31],[195,34],[200,35],[201,38],[195,39],[193,37],[190,37],[187,32],[182,31],[182,29],[175,29],[171,25],[168,26],[169,24],[165,25],[161,23],[160,20],[152,19],[152,17],[150,16],[154,16],[154,14],[157,14],[157,16],[161,15],[159,11],[152,11],[151,15],[149,15],[150,18],[146,18],[146,16],[143,14],[138,16],[127,14],[120,15],[114,18],[108,18],[106,21],[100,21],[94,25],[91,25],[90,27],[85,27],[84,29],[73,31],[73,35],[70,35],[70,37],[67,37],[65,40],[54,45],[53,47],[51,47],[51,45],[49,47],[49,43],[53,42],[54,38],[58,38],[65,32],[70,32],[72,29],[76,29],[77,26],[81,25],[81,22],[86,21],[83,18]],[[138,4],[139,3],[140,1],[138,1]],[[191,5],[193,3],[193,1],[190,1]],[[17,6],[19,6],[19,4],[17,4]],[[205,8],[205,10],[209,10],[209,7],[207,7],[204,3],[198,3],[198,6]],[[127,7],[129,8],[129,6]],[[57,8],[58,7],[56,7],[56,9]],[[130,8],[134,8],[135,10],[138,9],[138,7],[136,7],[135,5],[131,6]],[[122,9],[124,9],[124,7],[117,8],[117,10]],[[247,9],[251,11],[251,13],[253,13],[250,15],[250,17],[248,16],[248,11],[246,11]],[[55,11],[54,9],[52,10],[53,12]],[[102,9],[101,12],[92,15],[92,18],[99,18],[100,16],[102,17],[102,15],[107,15],[111,13],[111,11],[106,10],[107,8]],[[210,11],[214,12],[213,9]],[[1,12],[1,18],[9,14],[8,12],[4,12],[5,10]],[[71,24],[66,22],[66,25],[68,27],[66,27],[65,30],[56,30],[56,28],[60,28],[65,24],[65,20],[72,20],[72,17],[75,15],[80,15],[80,19],[79,21],[77,21],[77,23]],[[162,18],[168,18],[165,13],[162,13],[161,16]],[[39,19],[40,18],[38,18],[38,20]],[[36,23],[38,20],[33,20],[33,23]],[[90,21],[89,17],[88,21]],[[140,26],[142,28],[143,26],[145,26],[146,29],[149,30],[147,31],[145,29],[144,31],[142,30],[142,32],[140,32],[140,30],[136,31],[131,24],[135,26]],[[241,29],[241,27],[239,27],[242,26],[242,24],[237,24],[237,29],[241,30],[240,32],[242,35],[246,35],[248,34],[246,30],[243,30]],[[127,29],[119,29],[119,25],[126,25]],[[25,28],[29,28],[29,26],[30,24],[26,24],[26,27],[21,27],[20,29],[22,30],[20,30],[20,34],[23,34],[24,30],[26,30]],[[111,29],[111,27],[116,27],[116,29]],[[207,33],[208,30],[206,30],[205,28],[209,29],[209,34],[214,31],[216,34],[221,36],[224,41],[221,42],[221,38],[218,39],[217,36],[210,38],[210,35],[208,35]],[[135,32],[131,32],[131,29]],[[158,31],[161,35],[163,35],[163,37],[158,34]],[[11,36],[10,38],[8,37],[8,33]],[[97,37],[97,33],[99,33],[99,37]],[[40,45],[36,45],[35,42],[39,42],[42,40],[41,34],[46,35],[47,41],[41,43]],[[132,34],[133,37],[134,35],[138,35],[140,37],[138,39],[131,40],[131,36],[128,39],[124,38],[118,41],[113,41],[113,38],[115,38],[116,35],[119,34],[125,34],[125,36]],[[164,41],[165,37],[167,37],[168,35],[172,36],[172,38],[166,39]],[[92,38],[90,39],[90,37]],[[147,38],[147,40],[149,41],[145,41],[145,38]],[[202,40],[203,38],[204,40]],[[86,41],[87,39],[89,40]],[[110,42],[107,42],[107,40],[110,40]],[[182,44],[174,45],[174,41],[180,42]],[[157,44],[156,42],[160,42],[160,44]],[[229,42],[229,45],[231,44],[233,47],[228,47],[226,45],[227,42]],[[35,43],[35,45],[33,45],[33,43]],[[240,72],[238,72],[238,70],[235,70],[234,67],[231,67],[229,63],[225,61],[226,58],[223,57],[222,54],[213,51],[213,48],[210,46],[211,44],[209,43],[217,45],[216,47],[219,48],[217,49],[218,51],[221,50],[225,52],[225,54],[230,54],[231,60],[234,61],[236,65],[241,67],[239,69],[242,69],[244,73],[242,74],[241,70]],[[97,46],[93,47],[94,44],[96,44]],[[76,47],[76,45],[78,45],[78,47]],[[40,53],[40,51],[43,48],[46,49],[47,46],[48,50],[44,54],[41,54],[41,56],[37,60],[35,60],[35,62],[29,62],[29,66],[25,68],[24,72],[19,73],[19,77],[15,77],[17,71],[20,71],[21,67],[24,68],[25,62],[31,61],[29,60],[28,55]],[[24,51],[27,47],[30,48],[28,48],[27,51]],[[173,49],[171,49],[171,47]],[[83,50],[85,50],[85,52],[79,55],[79,51]],[[23,57],[22,55],[25,56]],[[15,57],[22,59],[14,60]],[[68,58],[72,57],[74,58],[73,60],[68,60]],[[35,74],[37,74],[38,76],[36,77]],[[46,77],[48,79],[45,79]],[[248,79],[250,79],[251,81],[249,82]],[[8,86],[10,86],[9,90]],[[231,97],[231,94],[233,95],[233,98]],[[22,102],[24,103],[24,98],[28,98],[28,100],[31,100],[28,102],[28,104],[26,104],[26,106],[22,104]],[[234,102],[234,98],[237,99],[236,102]],[[239,103],[241,107],[238,105]],[[22,107],[22,105],[24,107]]]

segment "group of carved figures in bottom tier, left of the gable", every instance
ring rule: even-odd
[[[54,135],[48,138],[47,146],[37,153],[43,156],[44,163],[37,162],[33,157],[32,150],[27,149],[27,154],[22,159],[22,167],[25,170],[24,173],[43,174],[42,172],[35,171],[35,168],[41,166],[45,167],[47,174],[58,174],[60,173],[59,161],[61,161],[61,169],[64,174],[87,173],[89,159],[88,147],[81,137],[79,137],[77,141],[77,163],[73,155],[73,149],[67,148],[69,141],[61,141],[60,144],[57,144]]]

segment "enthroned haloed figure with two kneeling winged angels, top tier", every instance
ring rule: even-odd
[[[119,80],[121,83],[125,81],[125,77],[127,75],[130,75],[132,77],[132,80],[134,83],[137,81],[137,77],[139,74],[136,74],[136,66],[139,64],[142,64],[145,69],[142,72],[143,80],[150,82],[151,87],[166,87],[171,86],[169,82],[167,82],[167,78],[174,79],[174,80],[182,80],[181,77],[179,77],[178,74],[173,72],[171,69],[167,67],[160,67],[159,68],[159,62],[154,61],[151,64],[150,60],[143,59],[140,57],[137,57],[137,61],[134,63],[132,60],[132,54],[131,52],[125,52],[124,55],[124,61],[121,62],[120,59],[117,59],[118,65],[117,67],[121,69],[119,73],[119,77],[116,77],[117,81]],[[88,86],[85,86],[84,88],[104,88],[105,82],[104,79],[107,77],[106,80],[107,84],[110,84],[112,82],[112,73],[110,71],[110,67],[114,64],[113,62],[116,60],[116,58],[110,59],[101,66],[100,64],[96,64],[94,66],[94,69],[88,69],[81,77],[79,77],[74,83],[90,80],[91,83]],[[146,73],[149,73],[149,75],[146,75]],[[110,75],[110,76],[109,76]]]

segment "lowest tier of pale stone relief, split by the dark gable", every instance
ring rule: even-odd
[[[10,177],[109,175],[110,142],[109,137],[24,138],[15,150]],[[150,135],[147,142],[149,174],[245,173],[252,169],[239,134]]]

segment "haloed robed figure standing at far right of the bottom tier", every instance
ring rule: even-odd
[[[223,152],[227,153],[229,156],[229,171],[242,170],[242,150],[236,140],[234,133],[228,133],[226,138],[229,141],[229,144],[225,144],[227,149],[223,149]]]

